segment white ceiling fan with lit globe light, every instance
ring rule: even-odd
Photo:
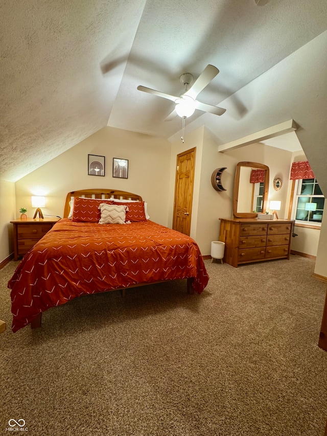
[[[178,97],[161,93],[160,91],[156,91],[155,89],[147,88],[146,86],[142,85],[137,86],[137,89],[176,103],[174,111],[166,118],[165,121],[170,121],[176,115],[176,113],[183,119],[191,117],[195,109],[202,110],[203,112],[214,113],[216,115],[222,115],[226,109],[201,103],[200,101],[196,100],[202,89],[204,89],[207,84],[217,76],[218,73],[219,70],[214,65],[207,65],[189,89],[188,86],[193,82],[193,76],[190,73],[182,74],[180,76],[180,81],[184,85],[185,89],[184,92]]]

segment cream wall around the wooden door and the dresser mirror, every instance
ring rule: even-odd
[[[232,190],[238,162],[260,162],[269,167],[268,204],[270,200],[281,200],[282,210],[278,216],[284,218],[287,215],[291,152],[264,144],[252,144],[225,153],[218,153],[217,141],[205,127],[200,127],[185,135],[184,141],[184,143],[176,141],[172,144],[169,225],[172,224],[173,216],[176,155],[196,146],[191,237],[198,243],[202,255],[209,255],[211,241],[218,239],[219,218],[232,217]],[[222,184],[226,191],[217,192],[211,185],[211,176],[214,170],[220,167],[226,167],[222,174]],[[272,181],[275,176],[281,177],[285,181],[279,191],[273,189]]]

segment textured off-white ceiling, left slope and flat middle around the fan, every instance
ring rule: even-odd
[[[138,85],[178,95],[211,63],[198,99],[219,105],[324,32],[327,2],[2,0],[0,26],[0,179],[15,181],[106,125],[175,140],[174,103]],[[223,117],[186,123],[216,133]]]

